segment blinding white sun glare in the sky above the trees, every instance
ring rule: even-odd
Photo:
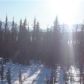
[[[60,22],[66,24],[74,23],[77,11],[76,0],[48,0],[46,8],[50,15],[58,16]]]

